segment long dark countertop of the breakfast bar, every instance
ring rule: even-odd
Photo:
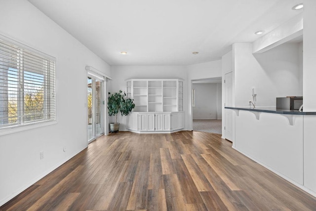
[[[304,112],[298,110],[282,110],[282,109],[261,109],[261,108],[238,108],[238,107],[225,107],[225,109],[243,110],[243,111],[256,111],[272,114],[290,114],[290,115],[316,115],[316,111]]]

